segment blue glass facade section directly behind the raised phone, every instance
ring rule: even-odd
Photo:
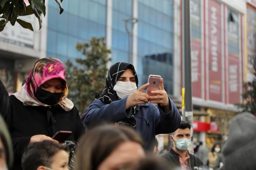
[[[173,1],[138,0],[138,58],[140,85],[148,75],[163,77],[165,90],[173,94]]]

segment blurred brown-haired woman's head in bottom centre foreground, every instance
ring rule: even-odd
[[[119,170],[145,157],[140,136],[124,125],[94,127],[79,140],[75,170]]]

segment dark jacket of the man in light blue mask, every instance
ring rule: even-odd
[[[163,158],[169,161],[175,167],[180,167],[179,154],[177,154],[173,149],[169,152],[161,154]],[[189,153],[189,163],[191,170],[202,170],[203,162],[197,157]]]

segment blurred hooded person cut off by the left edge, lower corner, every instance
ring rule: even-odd
[[[6,123],[0,115],[0,170],[8,170],[12,167],[13,150],[12,140]]]

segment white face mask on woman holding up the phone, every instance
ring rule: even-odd
[[[116,91],[117,96],[123,99],[137,91],[137,86],[134,82],[117,81],[113,90]]]

